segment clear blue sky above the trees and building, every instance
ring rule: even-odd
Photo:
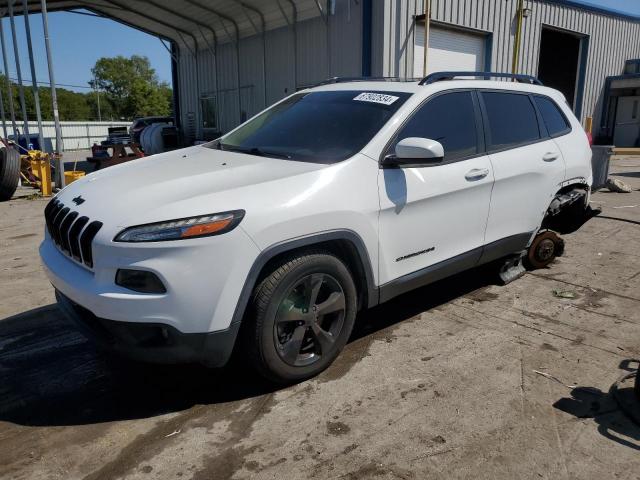
[[[640,0],[579,0],[582,3],[612,8],[621,12],[640,15]],[[38,81],[48,81],[42,18],[32,15],[31,34],[33,38],[36,75]],[[22,76],[31,78],[24,36],[24,20],[16,16],[16,30],[20,48]],[[9,20],[4,19],[5,39],[9,53],[9,74],[15,78],[15,63],[11,44]],[[87,86],[91,77],[91,67],[104,56],[133,54],[146,55],[155,68],[160,80],[171,82],[171,61],[169,53],[156,37],[139,32],[111,20],[78,15],[74,13],[49,13],[49,32],[53,48],[56,81],[59,84]],[[70,87],[67,87],[70,88]],[[87,91],[73,87],[72,90]]]

